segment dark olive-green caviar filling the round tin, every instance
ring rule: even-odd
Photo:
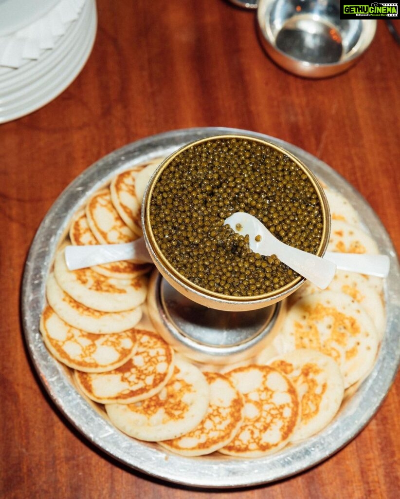
[[[288,156],[252,139],[210,139],[180,152],[154,186],[150,224],[170,264],[210,291],[254,296],[297,277],[223,225],[235,212],[254,215],[288,245],[318,250],[323,218],[312,183]]]

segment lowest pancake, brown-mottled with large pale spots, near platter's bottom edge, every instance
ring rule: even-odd
[[[300,417],[297,392],[280,371],[251,365],[226,373],[245,399],[245,419],[230,444],[219,452],[256,458],[284,447]]]

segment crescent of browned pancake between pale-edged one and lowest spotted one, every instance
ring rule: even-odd
[[[183,456],[203,456],[228,445],[244,418],[244,400],[223,374],[203,372],[210,385],[210,403],[201,423],[191,432],[160,442],[162,447]]]

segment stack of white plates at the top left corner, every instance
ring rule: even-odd
[[[80,73],[96,0],[0,0],[0,123],[39,109]]]

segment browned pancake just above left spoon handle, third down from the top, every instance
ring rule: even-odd
[[[99,243],[129,243],[137,238],[115,209],[110,189],[96,192],[88,201],[85,213],[90,230]]]

